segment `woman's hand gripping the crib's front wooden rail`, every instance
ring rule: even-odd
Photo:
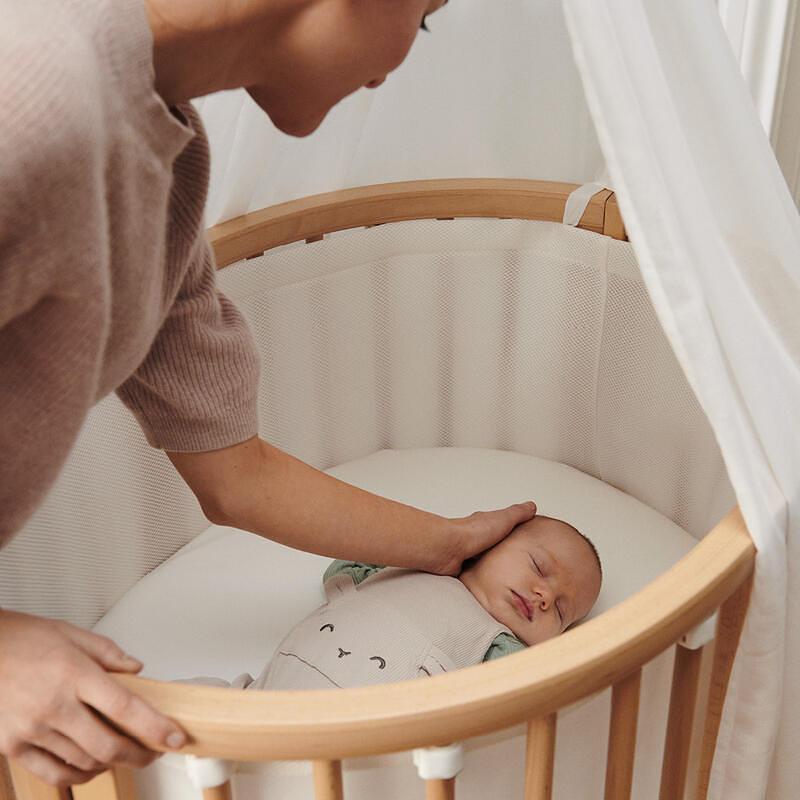
[[[66,622],[0,611],[0,753],[45,783],[85,783],[119,764],[142,767],[185,734],[108,671],[142,665],[105,636]],[[173,739],[172,737],[175,737]]]

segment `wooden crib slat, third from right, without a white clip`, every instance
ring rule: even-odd
[[[605,800],[630,800],[642,670],[614,684],[608,736]]]

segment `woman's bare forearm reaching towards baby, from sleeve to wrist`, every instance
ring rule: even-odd
[[[212,521],[331,558],[457,571],[469,526],[326,475],[255,438],[214,453],[171,453]]]

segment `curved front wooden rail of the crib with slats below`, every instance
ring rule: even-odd
[[[738,508],[672,569],[624,603],[577,629],[522,652],[448,675],[378,687],[315,692],[232,692],[117,675],[186,729],[183,752],[238,761],[310,760],[317,800],[342,800],[347,756],[463,741],[528,722],[525,800],[550,800],[556,712],[613,686],[606,800],[631,796],[641,667],[720,608],[698,800],[705,797],[725,689],[749,597],[755,548]],[[681,800],[699,656],[676,658],[661,800]],[[155,749],[155,744],[151,743]],[[60,790],[12,765],[18,800],[56,800]],[[125,771],[120,771],[124,773]],[[451,773],[452,774],[452,773]],[[130,781],[106,773],[74,800],[133,800]],[[429,800],[452,800],[455,778],[426,781]],[[230,797],[230,784],[203,797]]]

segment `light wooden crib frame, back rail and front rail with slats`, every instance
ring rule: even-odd
[[[372,186],[247,214],[210,233],[218,263],[224,267],[287,243],[314,242],[334,231],[403,220],[489,217],[561,222],[567,197],[575,188],[527,180]],[[580,227],[625,238],[611,192],[594,196]],[[642,667],[678,643],[660,800],[684,798],[690,762],[697,771],[691,779],[694,796],[701,800],[707,793],[754,560],[754,546],[734,508],[688,556],[610,611],[535,651],[424,681],[326,692],[239,693],[130,676],[118,680],[188,732],[190,743],[182,752],[202,757],[197,766],[206,800],[231,797],[227,760],[310,761],[317,800],[341,800],[342,759],[411,749],[420,764],[428,760],[421,767],[421,774],[428,776],[428,800],[445,800],[455,797],[459,750],[439,748],[520,723],[527,723],[525,763],[520,764],[525,798],[546,800],[553,784],[559,709],[610,686],[605,797],[624,800],[631,795]],[[712,643],[695,649],[680,646],[715,612]],[[710,663],[710,683],[701,697],[705,663]],[[696,728],[701,735],[693,741]],[[437,765],[437,755],[454,758]],[[135,797],[132,776],[122,769],[71,789],[46,786],[13,763],[10,777],[0,781],[0,798]]]

